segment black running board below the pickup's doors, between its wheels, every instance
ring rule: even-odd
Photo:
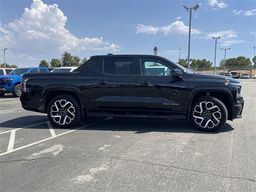
[[[134,115],[134,114],[111,114],[111,113],[96,113],[96,112],[88,113],[87,117],[186,119],[186,115]]]

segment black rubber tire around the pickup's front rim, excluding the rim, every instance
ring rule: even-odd
[[[206,102],[206,103],[212,102],[214,105],[218,106],[218,108],[220,109],[222,118],[220,119],[220,122],[217,126],[214,126],[213,128],[203,128],[195,122],[195,119],[193,117],[193,111],[194,111],[195,106],[198,105],[200,102]],[[191,120],[194,123],[194,125],[198,129],[206,131],[206,132],[214,132],[216,130],[221,129],[224,126],[224,124],[226,123],[226,120],[228,118],[226,106],[218,98],[211,97],[211,96],[205,96],[205,97],[202,97],[202,98],[199,98],[198,100],[196,100],[196,102],[194,102],[194,104],[192,106],[190,114],[191,114]]]

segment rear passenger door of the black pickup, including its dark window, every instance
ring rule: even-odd
[[[94,103],[99,110],[126,112],[138,107],[136,60],[106,57],[98,60],[93,80]]]

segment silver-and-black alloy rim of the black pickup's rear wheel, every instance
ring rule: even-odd
[[[75,117],[75,108],[73,104],[67,100],[57,100],[51,107],[51,117],[54,122],[64,125],[70,124]]]

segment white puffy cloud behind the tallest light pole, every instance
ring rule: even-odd
[[[161,31],[164,35],[184,35],[188,34],[189,27],[185,26],[182,21],[175,21],[167,26],[145,26],[143,24],[138,24],[136,27],[136,33],[146,33],[146,34],[156,34],[156,32]],[[200,34],[201,31],[198,29],[191,28],[191,34],[197,35]]]

